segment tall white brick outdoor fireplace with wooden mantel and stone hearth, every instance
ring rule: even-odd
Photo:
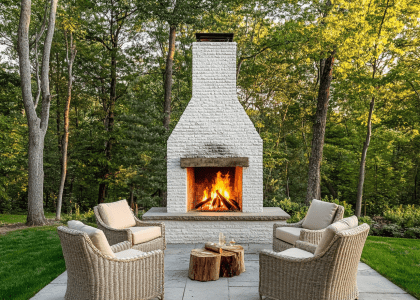
[[[270,242],[272,224],[289,216],[263,208],[263,141],[237,98],[236,43],[211,40],[192,46],[192,98],[167,143],[167,209],[143,219],[165,222],[168,243],[215,240],[220,231],[238,242]],[[240,211],[193,211],[193,167],[236,170]]]

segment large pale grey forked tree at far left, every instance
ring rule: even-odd
[[[29,26],[31,22],[31,0],[21,1],[21,13],[18,30],[19,71],[21,77],[22,99],[25,107],[29,128],[28,149],[28,225],[44,225],[46,222],[43,205],[44,167],[43,150],[44,138],[48,128],[51,94],[49,87],[50,50],[54,35],[55,17],[58,0],[51,0],[47,33],[43,43],[40,87],[42,94],[41,115],[36,112],[37,103],[34,103],[31,86],[30,46],[37,44],[44,32],[44,26],[29,41]]]

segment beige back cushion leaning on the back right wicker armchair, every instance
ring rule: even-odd
[[[337,211],[338,205],[319,200],[312,200],[302,227],[310,230],[324,229],[330,225]]]

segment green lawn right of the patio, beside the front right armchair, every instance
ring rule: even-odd
[[[420,299],[420,240],[369,236],[361,260]]]

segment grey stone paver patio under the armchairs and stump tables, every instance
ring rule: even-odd
[[[271,244],[245,244],[246,272],[233,278],[198,282],[188,278],[190,250],[203,244],[168,244],[165,250],[165,300],[259,300],[258,252]],[[32,300],[62,300],[67,272],[43,288]],[[357,283],[360,300],[415,300],[364,263],[359,264]]]

